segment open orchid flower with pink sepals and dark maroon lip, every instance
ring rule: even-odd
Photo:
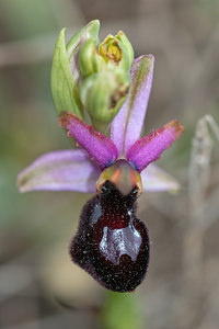
[[[150,241],[136,215],[137,198],[142,191],[178,189],[175,179],[152,163],[182,134],[178,121],[140,138],[153,66],[152,55],[132,61],[128,95],[125,100],[123,94],[110,137],[84,123],[74,110],[61,111],[59,124],[78,148],[44,155],[18,175],[21,192],[97,192],[82,208],[70,254],[101,285],[116,292],[134,291],[148,269]]]

